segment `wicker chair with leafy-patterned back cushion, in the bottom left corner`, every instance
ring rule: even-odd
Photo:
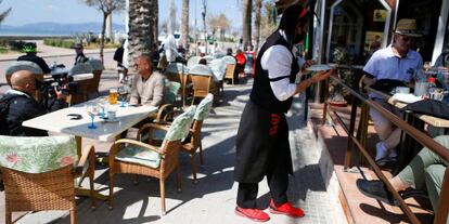
[[[76,177],[89,176],[91,207],[94,208],[94,148],[89,145],[74,167],[77,158],[74,137],[0,136],[5,223],[12,223],[12,212],[69,210],[70,223],[75,224]]]

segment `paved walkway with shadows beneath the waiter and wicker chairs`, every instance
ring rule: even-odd
[[[49,55],[51,57],[51,55]],[[69,56],[74,58],[75,56]],[[112,56],[111,56],[112,57]],[[68,57],[67,57],[68,58]],[[114,67],[106,61],[106,68]],[[0,70],[1,70],[0,63]],[[1,77],[0,82],[3,77]],[[117,76],[113,69],[103,73],[100,92],[118,87]],[[0,88],[0,94],[7,87]],[[115,207],[107,209],[107,202],[97,200],[97,209],[90,209],[87,198],[77,199],[77,223],[254,223],[234,214],[238,184],[233,181],[235,161],[235,135],[240,117],[248,101],[252,80],[238,85],[224,85],[224,94],[205,119],[202,130],[205,164],[198,168],[198,183],[194,184],[191,174],[190,158],[181,154],[180,166],[182,193],[177,193],[175,175],[166,180],[167,214],[161,214],[158,180],[140,177],[138,185],[132,184],[133,175],[118,174],[114,188]],[[346,223],[337,198],[331,194],[321,176],[319,160],[321,151],[316,136],[305,119],[304,96],[295,97],[287,115],[290,143],[294,164],[294,175],[288,187],[290,200],[306,212],[303,219],[292,219],[270,214],[267,223]],[[128,137],[136,136],[136,130]],[[97,151],[108,151],[111,143],[85,140],[84,145],[94,144]],[[84,184],[88,184],[85,181]],[[95,189],[107,195],[107,168],[98,167],[95,171]],[[258,203],[268,208],[269,189],[267,181],[259,183]],[[0,220],[4,218],[4,195],[0,193]],[[268,210],[267,210],[268,212]],[[17,218],[17,215],[15,215]],[[16,223],[69,223],[68,211],[44,211],[27,213]]]

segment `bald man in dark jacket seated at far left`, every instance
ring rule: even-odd
[[[41,115],[48,110],[37,102],[33,95],[36,92],[36,78],[29,70],[17,70],[11,76],[12,90],[7,91],[4,96],[0,98],[2,108],[2,135],[12,136],[46,136],[47,131],[36,130],[22,126],[22,122]],[[56,102],[51,106],[50,110],[63,108],[65,97],[56,91]],[[4,110],[3,110],[4,108]],[[3,123],[4,122],[4,123]],[[5,127],[5,128],[3,128]]]

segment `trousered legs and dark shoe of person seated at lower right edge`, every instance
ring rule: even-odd
[[[449,148],[449,135],[434,139],[437,143]],[[434,211],[438,210],[439,193],[442,186],[445,170],[449,162],[428,148],[423,148],[399,174],[388,180],[395,190],[400,192],[409,187],[427,189]],[[397,205],[392,194],[382,181],[357,180],[357,187],[363,195],[382,200],[389,205]],[[447,222],[449,224],[449,219]]]

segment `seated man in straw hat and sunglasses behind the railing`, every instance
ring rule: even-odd
[[[415,19],[400,19],[393,35],[393,43],[385,49],[374,52],[363,67],[365,75],[363,81],[365,84],[372,85],[382,79],[393,79],[408,83],[412,80],[413,75],[423,68],[421,55],[411,50],[414,38],[422,36],[416,30]],[[371,93],[370,98],[400,116],[398,109],[376,94]],[[385,162],[394,160],[397,156],[395,147],[399,144],[400,129],[394,127],[388,119],[384,118],[375,109],[370,109],[370,116],[381,139],[381,142],[376,144],[375,161],[377,164],[383,166]]]

